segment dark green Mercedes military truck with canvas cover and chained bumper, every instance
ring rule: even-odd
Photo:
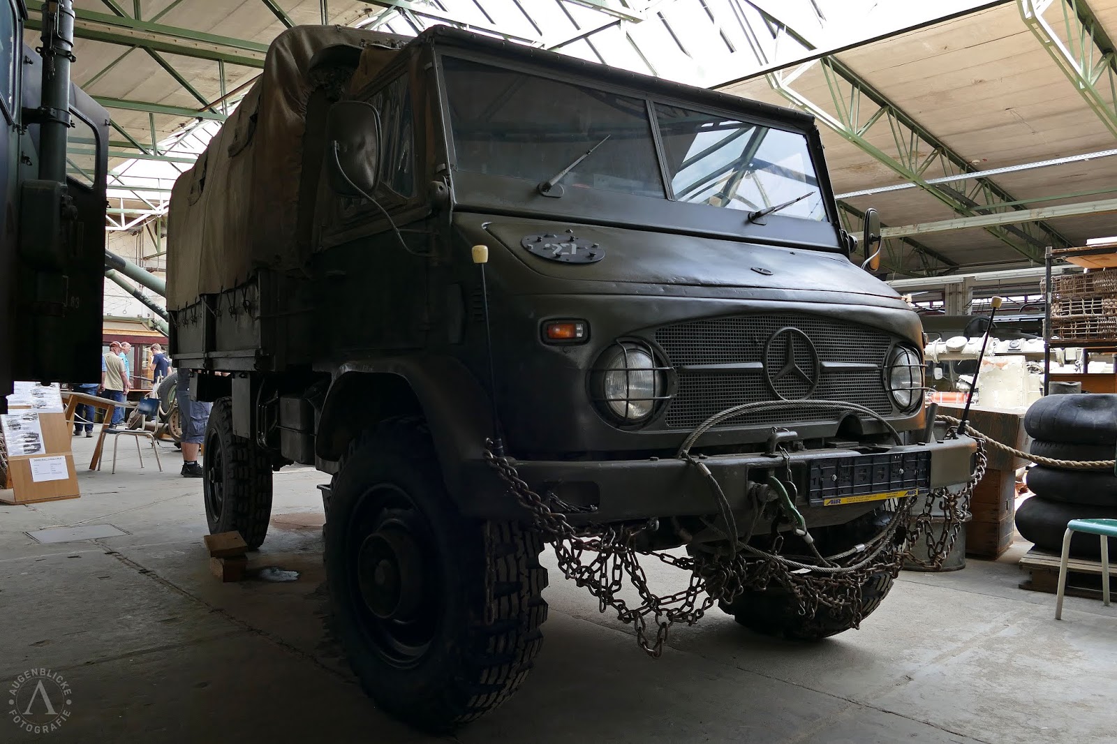
[[[258,546],[273,471],[330,474],[337,632],[424,728],[523,681],[545,540],[596,535],[557,560],[603,605],[579,555],[685,546],[691,605],[821,638],[890,588],[896,505],[971,473],[930,436],[918,317],[852,259],[879,219],[855,254],[800,113],[448,28],[294,28],[169,219],[209,528]],[[859,578],[804,600],[812,565]]]

